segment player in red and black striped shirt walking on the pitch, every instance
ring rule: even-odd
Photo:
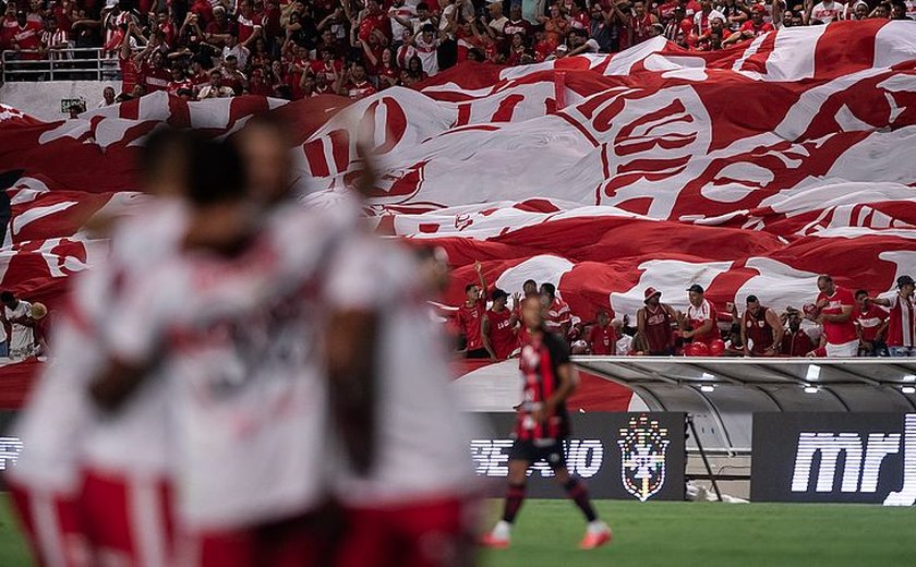
[[[518,409],[515,444],[509,453],[509,487],[503,519],[483,536],[481,544],[508,547],[513,522],[525,500],[528,468],[544,459],[557,483],[586,516],[589,523],[579,546],[591,550],[610,542],[611,530],[598,519],[586,485],[570,476],[566,468],[563,442],[570,433],[566,399],[576,388],[576,375],[566,343],[544,330],[542,309],[538,298],[528,298],[522,302],[522,319],[530,331],[519,360],[525,400]]]

